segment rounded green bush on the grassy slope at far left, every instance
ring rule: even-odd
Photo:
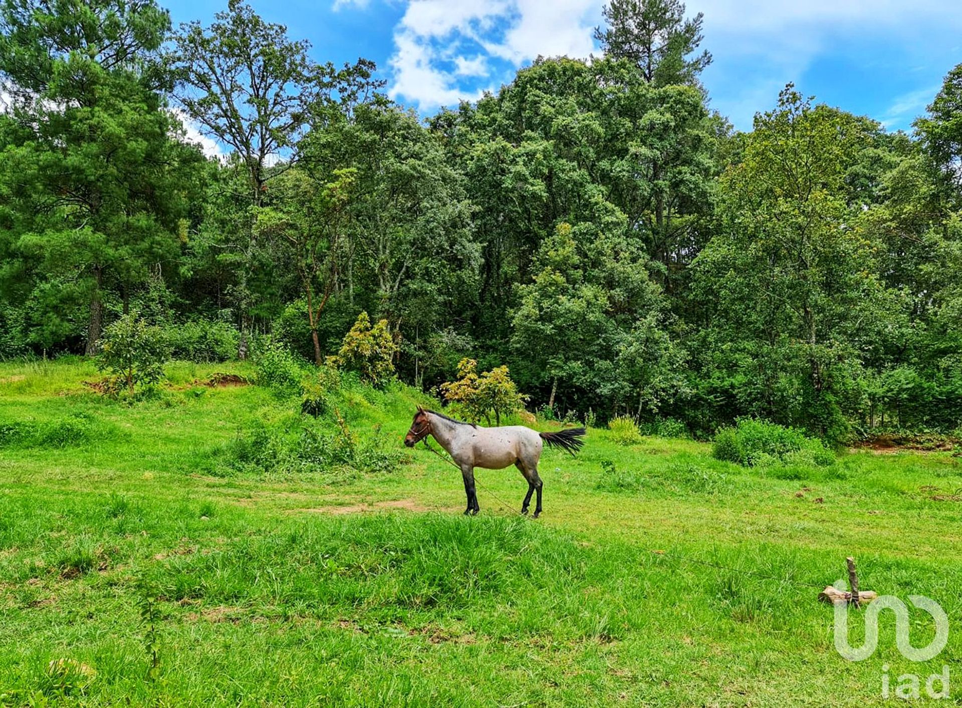
[[[109,372],[130,395],[164,378],[170,356],[165,332],[137,313],[121,316],[104,330],[97,368]]]

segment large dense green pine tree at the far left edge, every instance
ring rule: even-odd
[[[184,231],[200,157],[172,138],[179,124],[159,92],[168,28],[152,0],[0,6],[0,78],[15,126],[0,181],[14,205],[17,277],[34,279],[29,297],[48,321],[86,303],[88,354],[105,297],[119,291],[126,310],[148,268],[176,258]]]

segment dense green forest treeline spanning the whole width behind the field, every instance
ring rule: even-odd
[[[962,425],[962,64],[911,135],[792,86],[743,133],[700,14],[604,17],[602,56],[420,116],[239,0],[2,0],[0,357],[137,313],[185,358],[321,363],[365,312],[425,389],[470,357],[695,434]]]

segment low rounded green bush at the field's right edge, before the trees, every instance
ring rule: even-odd
[[[807,438],[797,428],[747,417],[739,418],[736,427],[722,428],[716,434],[712,455],[748,467],[827,467],[835,463],[834,453],[822,441]]]

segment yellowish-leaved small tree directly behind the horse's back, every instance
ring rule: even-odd
[[[458,376],[460,378],[456,381],[442,384],[441,391],[468,421],[480,422],[484,417],[490,424],[494,414],[495,425],[500,425],[502,416],[511,416],[524,409],[527,396],[518,392],[508,374],[508,367],[494,367],[479,376],[477,362],[462,359],[458,364]]]

